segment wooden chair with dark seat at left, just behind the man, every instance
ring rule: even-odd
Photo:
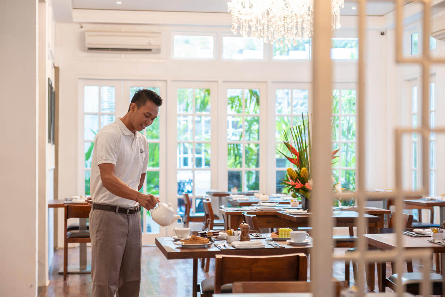
[[[70,243],[87,243],[91,242],[89,237],[89,230],[68,230],[67,221],[70,218],[86,219],[89,216],[91,207],[86,204],[65,204],[65,236],[63,246],[63,280],[66,280],[66,273],[68,268],[68,244]]]

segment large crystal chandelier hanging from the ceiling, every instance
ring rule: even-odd
[[[332,29],[340,28],[344,0],[331,0]],[[280,46],[296,45],[313,30],[314,0],[231,0],[232,32],[243,37],[263,38]]]

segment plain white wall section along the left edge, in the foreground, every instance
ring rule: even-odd
[[[36,296],[37,1],[0,1],[0,28],[0,296]]]

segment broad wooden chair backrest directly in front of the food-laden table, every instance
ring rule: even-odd
[[[307,256],[215,256],[214,293],[235,281],[307,281]],[[279,268],[279,269],[277,269]]]

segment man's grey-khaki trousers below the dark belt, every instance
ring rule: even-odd
[[[89,213],[93,297],[138,297],[141,285],[141,216]]]

